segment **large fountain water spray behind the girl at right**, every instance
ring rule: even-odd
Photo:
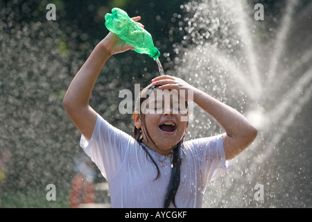
[[[312,206],[311,144],[304,142],[311,115],[302,117],[311,110],[311,22],[301,15],[312,3],[303,5],[285,1],[274,28],[254,19],[249,1],[181,6],[188,33],[175,46],[175,68],[166,73],[236,108],[258,129],[254,143],[234,159],[234,169],[209,185],[205,207]],[[189,138],[223,132],[200,109],[193,119]],[[295,140],[300,132],[302,139]],[[256,185],[264,187],[261,201],[254,198]]]

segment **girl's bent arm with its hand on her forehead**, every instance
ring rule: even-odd
[[[231,160],[247,148],[257,137],[257,129],[241,113],[209,94],[174,76],[159,76],[152,80],[159,89],[193,90],[193,102],[213,117],[223,130],[223,146],[226,160]],[[192,100],[192,98],[187,98]]]

